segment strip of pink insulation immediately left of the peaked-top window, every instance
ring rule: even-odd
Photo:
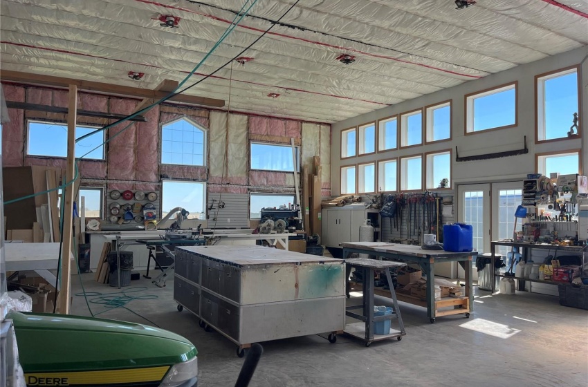
[[[137,126],[136,148],[136,180],[159,180],[159,106],[145,114],[148,122],[140,122]]]

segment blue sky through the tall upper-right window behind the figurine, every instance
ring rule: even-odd
[[[567,137],[578,112],[578,74],[544,80],[545,139]]]

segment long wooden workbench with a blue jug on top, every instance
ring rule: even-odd
[[[398,300],[405,303],[412,303],[427,308],[427,315],[431,323],[435,322],[437,317],[448,316],[450,314],[465,314],[470,317],[473,310],[474,293],[472,288],[472,258],[477,256],[477,252],[445,252],[444,250],[425,250],[420,246],[400,245],[396,243],[385,242],[353,242],[342,243],[343,258],[348,258],[351,254],[368,254],[377,258],[385,258],[389,261],[399,261],[406,263],[416,263],[423,270],[427,277],[427,296],[426,299],[419,299],[407,294],[396,294]],[[458,298],[446,297],[441,301],[435,301],[435,263],[441,262],[460,262],[466,261],[466,289],[465,296]],[[384,290],[374,290],[375,294],[389,296],[389,292]],[[349,294],[349,283],[347,284],[347,293]]]

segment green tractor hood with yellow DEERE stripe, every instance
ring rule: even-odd
[[[112,379],[104,383],[110,386],[158,385],[152,383],[161,381],[171,366],[190,361],[197,353],[178,334],[136,323],[21,312],[11,312],[6,318],[14,321],[25,375],[75,374],[80,379],[84,374],[80,380],[85,380],[100,371],[94,376]],[[50,379],[44,382],[64,385],[58,377]]]

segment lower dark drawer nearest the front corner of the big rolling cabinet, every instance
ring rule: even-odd
[[[239,307],[203,290],[202,318],[217,330],[239,341]]]

